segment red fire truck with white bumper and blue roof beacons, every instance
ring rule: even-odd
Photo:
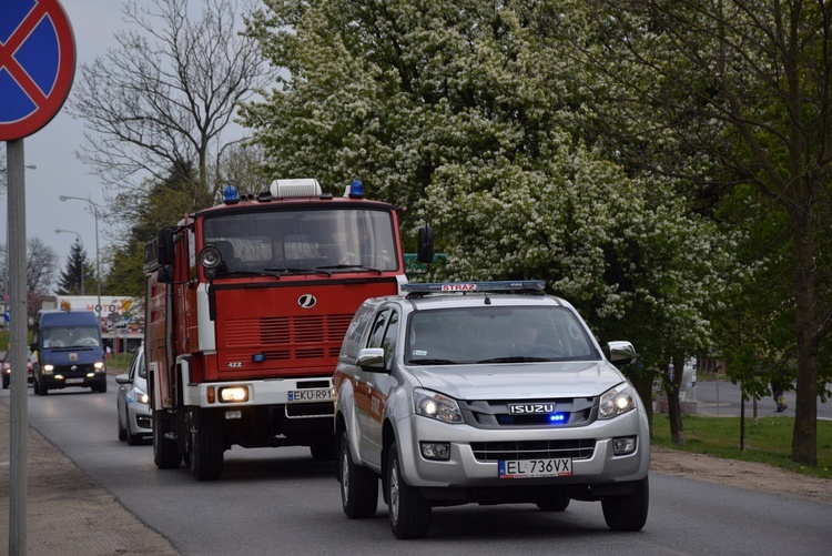
[[[316,180],[224,194],[163,229],[145,256],[153,458],[201,481],[222,475],[234,444],[332,458],[347,326],[364,300],[406,282],[400,209],[364,199],[358,181],[344,196]],[[419,235],[429,247],[429,229]]]

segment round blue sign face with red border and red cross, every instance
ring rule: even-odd
[[[75,39],[58,0],[0,0],[0,141],[58,113],[75,74]]]

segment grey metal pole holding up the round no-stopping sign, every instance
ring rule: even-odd
[[[23,140],[7,143],[9,170],[9,266],[7,279],[11,285],[10,346],[13,371],[11,373],[11,431],[9,462],[9,554],[27,554],[27,485],[28,485],[28,406],[27,396],[27,325],[26,303],[26,162]],[[21,372],[22,371],[22,372]]]

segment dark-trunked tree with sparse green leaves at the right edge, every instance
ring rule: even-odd
[[[628,130],[642,131],[631,135],[640,160],[702,184],[753,185],[783,215],[792,280],[781,295],[793,317],[797,361],[792,459],[814,465],[819,357],[832,331],[832,6],[598,0],[591,8],[618,54],[607,82],[642,109],[625,118]],[[580,62],[610,67],[602,54],[587,49]],[[645,73],[650,87],[631,78]],[[651,123],[660,115],[661,125],[646,125],[639,112],[650,112]],[[661,142],[669,137],[688,150],[668,150]]]

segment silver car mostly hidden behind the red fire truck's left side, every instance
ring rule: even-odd
[[[119,439],[135,446],[153,434],[153,419],[148,396],[148,368],[144,364],[144,346],[140,346],[130,361],[128,372],[115,377],[119,392],[115,395]]]

